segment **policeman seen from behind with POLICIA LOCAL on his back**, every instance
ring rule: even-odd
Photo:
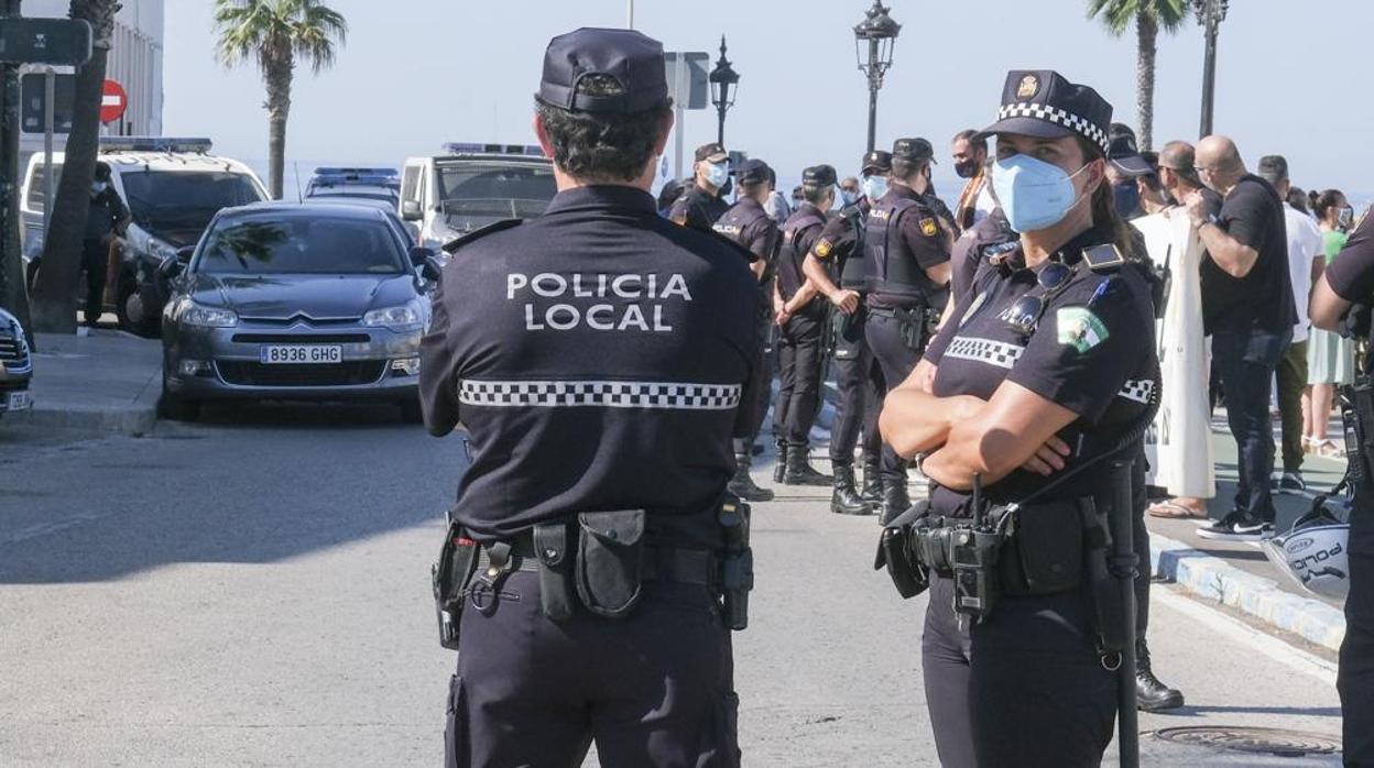
[[[555,37],[534,128],[558,195],[449,245],[420,392],[433,434],[471,440],[436,569],[451,767],[578,765],[592,739],[607,765],[739,763],[721,613],[743,624],[752,570],[724,493],[757,282],[654,212],[662,58],[632,30]]]

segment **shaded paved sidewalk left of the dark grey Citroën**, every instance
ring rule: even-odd
[[[122,434],[153,429],[161,341],[96,328],[85,337],[37,334],[36,343],[33,409],[7,415],[5,423]]]

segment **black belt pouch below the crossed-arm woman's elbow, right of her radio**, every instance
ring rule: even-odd
[[[1006,508],[993,510],[998,521]],[[1017,508],[1007,525],[998,569],[1002,594],[1051,595],[1083,584],[1083,519],[1077,501],[1046,501]]]

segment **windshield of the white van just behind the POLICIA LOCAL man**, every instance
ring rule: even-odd
[[[539,216],[558,188],[551,165],[464,161],[440,165],[438,191],[449,227],[471,229]]]

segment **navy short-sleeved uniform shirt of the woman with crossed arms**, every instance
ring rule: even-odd
[[[1113,448],[1145,411],[1156,386],[1154,310],[1145,279],[1127,265],[1092,272],[1080,261],[1084,247],[1106,242],[1105,232],[1088,229],[1059,250],[1062,261],[1074,265],[1073,276],[1050,294],[1029,338],[1007,323],[1004,312],[1017,298],[1040,294],[1036,283],[1044,264],[1026,269],[984,262],[973,289],[958,300],[952,317],[926,350],[926,360],[938,365],[938,397],[989,400],[1010,381],[1077,414],[1059,433],[1074,449],[1066,468]],[[1024,264],[1020,247],[1007,264]],[[1020,501],[1057,474],[1046,478],[1015,470],[985,492],[991,501]],[[1101,473],[1088,470],[1040,500],[1090,493],[1094,475]],[[966,500],[967,495],[944,488],[932,493],[936,510],[945,514]]]

